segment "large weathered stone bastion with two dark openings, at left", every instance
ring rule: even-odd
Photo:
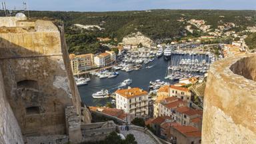
[[[22,135],[67,134],[69,106],[83,123],[90,123],[91,115],[81,105],[73,79],[63,27],[51,21],[37,20],[32,25],[7,19],[11,27],[0,24],[0,83]],[[18,27],[21,23],[23,27]]]

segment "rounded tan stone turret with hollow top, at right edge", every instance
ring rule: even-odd
[[[256,55],[217,61],[204,97],[203,143],[256,143]]]

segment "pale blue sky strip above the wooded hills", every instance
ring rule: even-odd
[[[147,9],[251,9],[256,0],[0,0],[7,9],[21,8],[23,1],[37,11],[133,11]]]

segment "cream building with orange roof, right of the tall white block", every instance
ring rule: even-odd
[[[175,85],[170,86],[169,95],[171,97],[178,97],[179,99],[187,102],[190,102],[192,98],[192,93],[189,89],[185,87],[177,87]]]

